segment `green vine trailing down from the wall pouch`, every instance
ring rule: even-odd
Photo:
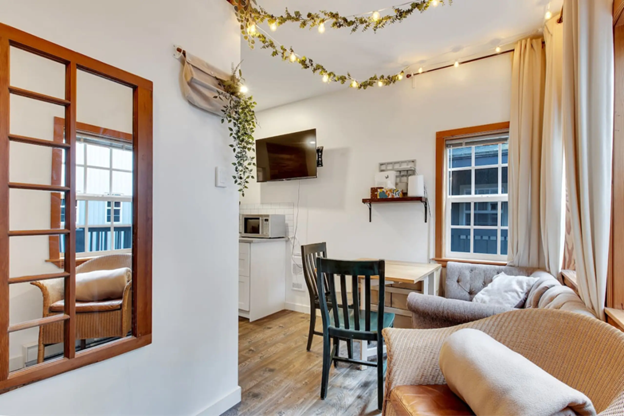
[[[240,65],[239,65],[240,66]],[[228,130],[232,143],[230,148],[236,160],[234,165],[234,183],[238,185],[238,191],[245,196],[250,179],[255,179],[256,174],[256,143],[254,133],[258,124],[256,118],[256,102],[252,96],[245,95],[243,73],[236,67],[229,80],[222,81],[224,92],[218,97],[224,102],[223,118],[221,123],[228,124]]]

